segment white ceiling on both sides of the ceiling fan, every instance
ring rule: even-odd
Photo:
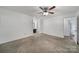
[[[0,8],[28,14],[31,16],[36,15],[42,11],[39,6],[0,6]],[[57,15],[76,13],[79,10],[79,6],[56,6],[52,11]]]

